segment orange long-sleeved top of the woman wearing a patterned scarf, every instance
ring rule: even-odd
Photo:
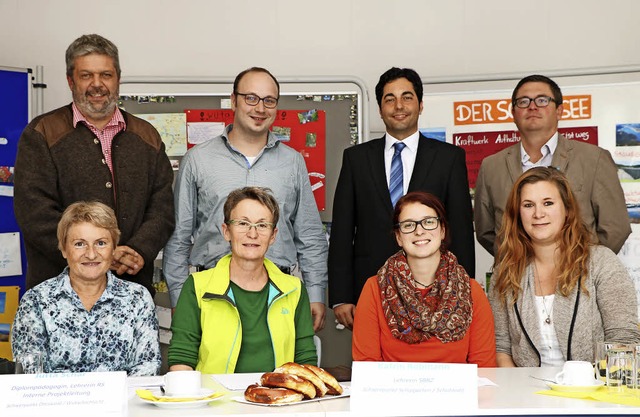
[[[435,337],[416,344],[396,339],[382,311],[378,277],[369,278],[362,289],[353,323],[354,361],[475,363],[496,366],[493,313],[484,290],[471,279],[473,317],[462,340],[442,343]]]

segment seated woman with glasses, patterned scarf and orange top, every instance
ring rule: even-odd
[[[353,359],[495,366],[491,308],[482,287],[446,249],[442,203],[425,192],[408,193],[398,200],[393,223],[402,250],[362,290]]]

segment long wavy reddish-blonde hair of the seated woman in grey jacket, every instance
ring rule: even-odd
[[[556,168],[536,167],[523,173],[511,189],[505,206],[502,225],[498,232],[498,251],[494,263],[493,290],[505,304],[508,296],[512,303],[518,299],[522,290],[522,276],[525,268],[534,256],[531,238],[522,226],[520,201],[522,188],[526,184],[546,181],[556,186],[566,210],[566,219],[558,236],[559,252],[558,290],[563,296],[569,293],[585,276],[589,263],[589,248],[594,244],[594,236],[582,221],[580,207],[576,201],[567,177]],[[588,294],[584,285],[582,290]]]

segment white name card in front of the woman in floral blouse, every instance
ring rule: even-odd
[[[0,375],[0,416],[120,416],[126,372]]]

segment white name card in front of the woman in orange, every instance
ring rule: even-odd
[[[352,413],[451,415],[477,408],[477,365],[353,362]]]

